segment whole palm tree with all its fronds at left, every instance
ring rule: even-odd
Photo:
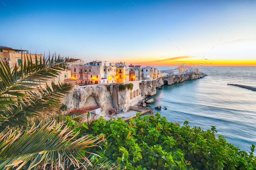
[[[83,153],[102,141],[102,135],[76,139],[79,132],[65,125],[70,113],[58,112],[60,98],[69,93],[72,85],[52,82],[51,87],[46,84],[43,88],[37,83],[59,75],[69,61],[53,55],[33,63],[26,54],[20,67],[15,65],[13,69],[0,61],[1,170],[85,168],[91,164]],[[71,119],[80,122],[82,116],[72,113]]]

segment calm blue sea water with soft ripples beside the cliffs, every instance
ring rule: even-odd
[[[161,70],[175,67],[157,67]],[[256,67],[199,67],[208,76],[183,83],[164,85],[152,96],[152,106],[166,106],[160,112],[168,121],[185,120],[204,130],[215,125],[218,133],[234,146],[250,151],[256,144],[256,91],[227,83],[256,87]]]

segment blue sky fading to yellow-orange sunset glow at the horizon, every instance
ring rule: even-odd
[[[256,66],[255,0],[3,0],[0,45],[85,62]]]

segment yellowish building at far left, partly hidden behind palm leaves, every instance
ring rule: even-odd
[[[27,50],[19,50],[19,49],[13,49],[10,47],[0,46],[0,58],[3,60],[3,62],[5,62],[6,64],[9,64],[11,69],[14,68],[15,64],[17,64],[17,66],[21,64],[21,54],[23,57],[28,56],[29,59],[31,56],[33,63],[36,62],[36,58],[37,58],[37,61],[39,61],[40,57],[42,57],[42,55],[27,54],[27,53],[28,53]]]

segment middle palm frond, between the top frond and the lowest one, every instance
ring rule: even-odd
[[[52,88],[46,85],[46,89],[36,88],[33,91],[26,91],[26,98],[17,99],[17,103],[8,105],[8,109],[0,112],[3,116],[0,119],[0,131],[7,126],[14,127],[27,126],[27,117],[43,118],[46,112],[53,112],[59,109],[60,97],[67,94],[72,89],[68,83],[52,83]]]

